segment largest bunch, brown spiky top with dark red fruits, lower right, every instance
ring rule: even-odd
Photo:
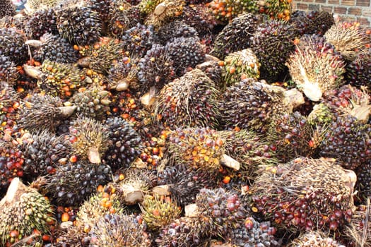
[[[334,159],[298,157],[257,178],[252,211],[278,229],[338,231],[351,221],[356,179]]]

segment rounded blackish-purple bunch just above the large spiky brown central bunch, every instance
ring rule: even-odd
[[[176,37],[165,45],[167,54],[174,61],[178,76],[187,73],[189,68],[195,68],[205,60],[204,45],[194,37]]]

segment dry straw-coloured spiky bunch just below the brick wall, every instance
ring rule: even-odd
[[[334,45],[337,52],[346,61],[353,61],[355,56],[370,45],[369,39],[360,28],[360,23],[336,23],[324,34],[326,42]]]

